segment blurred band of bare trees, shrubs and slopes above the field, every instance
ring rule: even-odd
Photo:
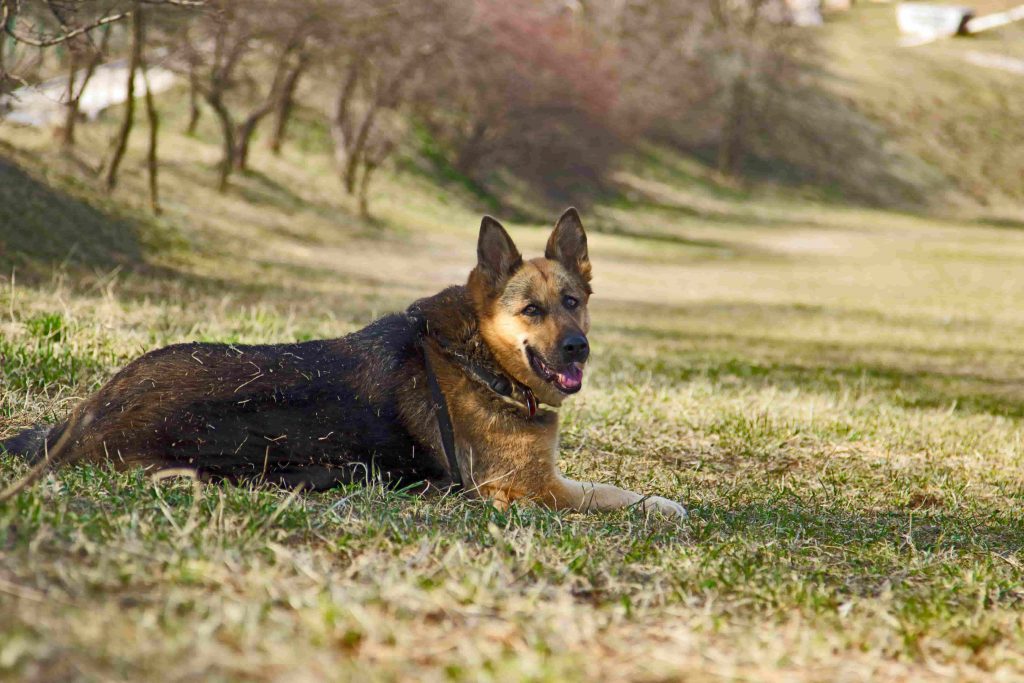
[[[219,147],[221,190],[264,170],[256,139],[329,156],[362,215],[380,169],[532,217],[628,201],[616,172],[671,154],[729,188],[1016,220],[1014,4],[3,0],[0,125],[105,190],[141,145],[155,210],[173,129]]]

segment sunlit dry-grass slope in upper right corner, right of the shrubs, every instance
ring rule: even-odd
[[[1015,4],[971,3],[979,14]],[[868,3],[829,15],[821,46],[830,89],[879,127],[861,134],[874,136],[890,173],[923,194],[922,206],[980,205],[1019,218],[1021,76],[974,66],[968,56],[1024,58],[1024,24],[905,48],[894,11]]]

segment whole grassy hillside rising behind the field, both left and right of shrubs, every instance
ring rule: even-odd
[[[979,9],[994,11],[1006,5],[993,0]],[[833,156],[812,159],[808,155],[813,146],[797,144],[784,159],[755,158],[750,175],[737,187],[716,178],[700,154],[688,157],[685,152],[647,145],[622,160],[618,176],[670,178],[671,184],[685,189],[686,201],[692,201],[684,213],[694,218],[706,216],[703,206],[709,202],[725,197],[737,200],[733,204],[752,206],[800,205],[810,200],[821,206],[853,203],[1000,224],[1022,220],[1024,162],[1017,154],[1024,144],[1018,125],[1024,116],[1020,77],[972,66],[967,57],[978,52],[1024,56],[1020,47],[1024,25],[904,48],[899,46],[893,7],[869,4],[829,14],[826,25],[809,35],[816,37],[823,89],[801,105],[806,106],[807,126],[815,135],[845,140]],[[0,167],[0,246],[4,247],[0,261],[24,268],[30,261],[60,263],[70,255],[71,262],[108,267],[139,263],[143,253],[161,261],[167,258],[169,242],[184,240],[204,252],[219,244],[225,232],[234,237],[241,215],[253,217],[270,232],[287,230],[279,211],[298,212],[299,222],[308,223],[317,234],[388,226],[415,231],[416,219],[408,218],[417,212],[392,204],[407,186],[415,188],[411,198],[423,197],[428,204],[437,200],[445,210],[466,206],[474,213],[504,206],[509,215],[535,219],[549,211],[531,198],[480,195],[452,169],[432,166],[429,157],[420,158],[421,150],[414,146],[398,164],[402,172],[397,176],[391,172],[375,193],[374,212],[380,222],[360,223],[351,217],[354,207],[340,197],[330,165],[330,138],[313,110],[307,110],[295,126],[298,132],[284,160],[260,150],[253,165],[256,171],[237,178],[234,189],[222,198],[207,189],[215,184],[216,127],[208,115],[198,137],[181,135],[184,113],[179,94],[162,98],[166,111],[161,157],[168,162],[162,186],[169,210],[160,220],[148,216],[140,201],[144,185],[137,178],[127,178],[113,200],[96,191],[98,181],[90,169],[97,168],[106,154],[120,116],[117,109],[104,114],[98,125],[83,126],[82,143],[72,158],[55,154],[47,133],[0,124],[0,142],[5,145],[0,153],[8,159]],[[307,106],[329,106],[319,92],[304,93],[303,100]],[[135,175],[142,170],[143,136],[144,126],[136,132],[129,158]],[[202,185],[202,202],[197,201],[194,184]],[[630,206],[638,196],[641,203],[649,202],[637,193],[629,180],[617,183],[595,208],[600,213]],[[204,211],[197,212],[196,205]],[[262,211],[253,211],[250,205],[269,211],[254,215]],[[35,209],[22,211],[26,206]],[[742,224],[744,212],[735,213],[735,222]],[[26,220],[33,224],[24,224]],[[433,227],[430,220],[424,222]],[[605,227],[635,232],[610,222]],[[195,255],[196,250],[190,252]]]

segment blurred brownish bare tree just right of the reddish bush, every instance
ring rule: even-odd
[[[621,55],[625,109],[640,132],[714,145],[718,171],[735,176],[783,125],[769,112],[793,117],[778,104],[808,73],[813,40],[793,25],[784,0],[586,7]]]

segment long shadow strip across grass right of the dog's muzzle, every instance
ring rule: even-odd
[[[722,306],[713,304],[671,307],[668,314],[680,319],[700,319],[718,313]],[[724,306],[730,314],[732,304]],[[646,309],[659,306],[646,305]],[[759,315],[778,318],[778,324],[793,321],[794,312],[817,316],[826,309],[792,306],[755,306]],[[738,319],[749,319],[743,306],[735,313]],[[777,310],[776,310],[777,309]],[[744,312],[745,311],[745,312]],[[841,311],[846,316],[847,311]],[[914,329],[935,328],[941,334],[947,326],[930,319],[889,319],[874,311],[854,311],[867,324],[892,329],[912,326]],[[770,317],[766,317],[770,319]],[[650,372],[675,381],[706,379],[718,384],[744,384],[758,388],[774,386],[815,393],[885,394],[896,405],[911,409],[938,409],[956,413],[1024,418],[1024,377],[999,374],[1001,369],[950,367],[948,358],[963,353],[956,346],[924,347],[887,341],[819,341],[796,339],[764,339],[756,334],[691,330],[660,330],[644,325],[621,325],[605,328],[614,335],[635,339],[638,343],[663,342],[681,344],[654,357],[634,357],[628,352],[615,352],[613,364]],[[990,353],[1010,357],[1012,349],[989,349]],[[878,359],[885,358],[885,359]],[[900,360],[893,361],[892,358]],[[943,361],[940,366],[939,361]]]

